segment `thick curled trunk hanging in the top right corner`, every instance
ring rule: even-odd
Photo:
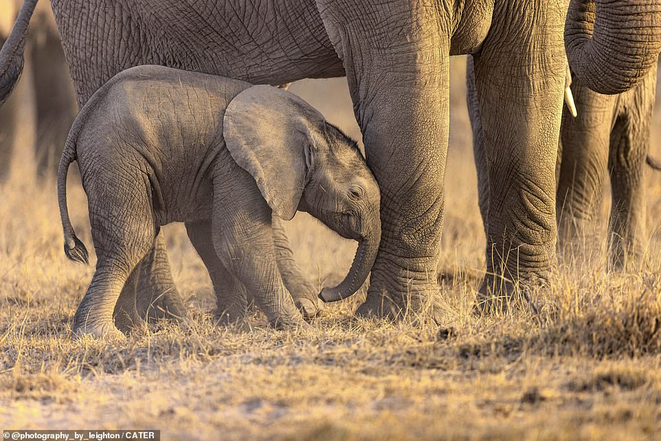
[[[638,84],[661,51],[660,0],[572,0],[565,21],[569,65],[597,93]]]

